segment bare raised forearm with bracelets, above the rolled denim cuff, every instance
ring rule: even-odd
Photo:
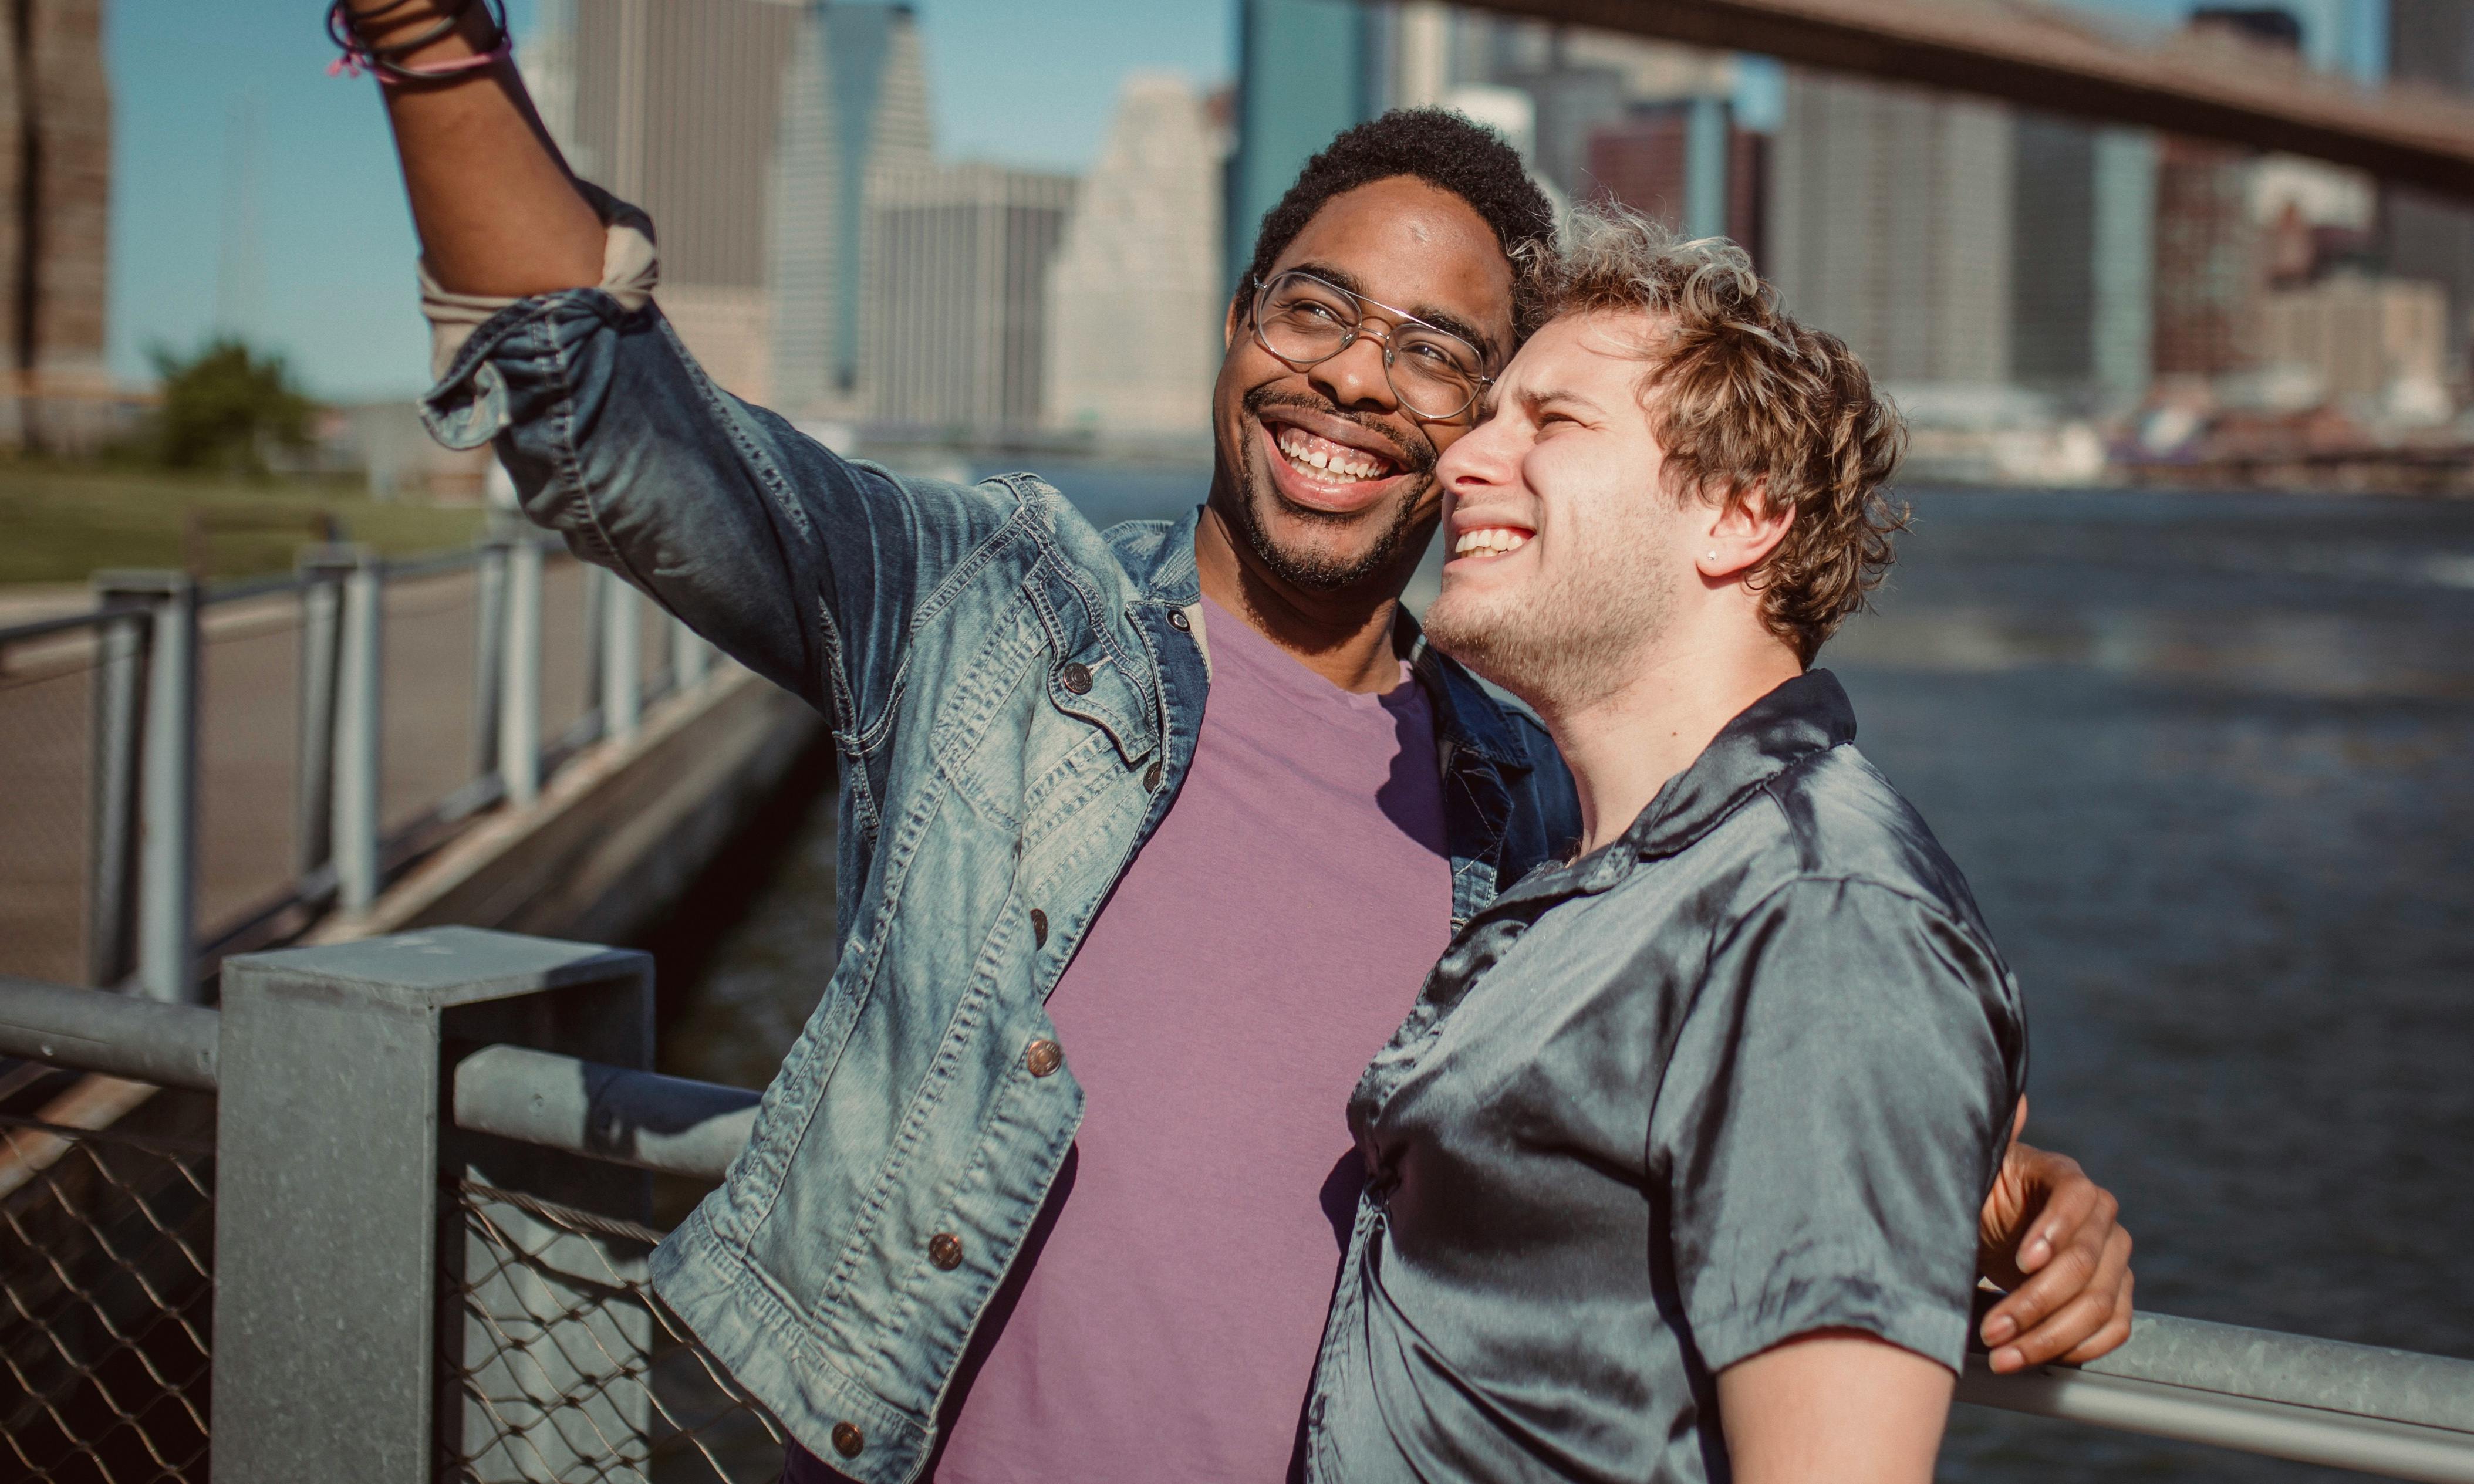
[[[421,37],[455,0],[346,0],[361,40],[393,47]],[[398,57],[426,69],[497,45],[482,5],[435,42]],[[383,87],[403,158],[403,190],[430,277],[458,294],[547,294],[601,282],[601,220],[574,188],[542,129],[515,62],[453,72],[440,82]]]

